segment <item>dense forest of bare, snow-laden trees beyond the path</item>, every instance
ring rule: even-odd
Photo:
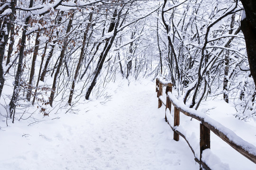
[[[117,79],[162,76],[190,108],[221,99],[256,120],[256,36],[242,23],[254,2],[241,1],[0,0],[0,115],[72,111]]]

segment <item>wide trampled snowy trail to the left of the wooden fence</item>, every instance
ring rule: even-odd
[[[199,169],[188,145],[173,140],[153,82],[122,87],[111,101],[80,109],[0,131],[0,170]]]

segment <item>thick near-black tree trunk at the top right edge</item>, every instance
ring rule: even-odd
[[[256,1],[241,0],[241,2],[246,14],[241,20],[241,30],[245,36],[250,71],[256,86]]]

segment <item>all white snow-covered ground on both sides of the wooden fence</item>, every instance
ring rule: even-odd
[[[173,140],[165,107],[157,109],[155,83],[129,83],[108,85],[107,97],[81,98],[67,113],[69,107],[56,107],[49,117],[34,113],[35,119],[8,120],[8,127],[1,116],[0,170],[198,170],[183,138]],[[232,105],[207,101],[199,110],[256,145],[256,123],[236,119]],[[198,156],[199,121],[181,113],[178,128]],[[212,170],[256,170],[256,164],[213,133],[204,159]]]

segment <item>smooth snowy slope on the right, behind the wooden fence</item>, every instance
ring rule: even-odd
[[[165,91],[165,90],[164,90]],[[176,92],[173,91],[175,94]],[[163,96],[163,98],[165,95]],[[174,96],[172,95],[174,99]],[[175,99],[177,100],[177,99]],[[247,122],[239,120],[235,118],[236,110],[232,103],[226,103],[223,99],[214,101],[203,101],[199,107],[200,114],[197,114],[195,110],[191,110],[190,108],[184,108],[184,104],[182,101],[179,103],[179,107],[183,107],[183,110],[194,113],[200,117],[208,117],[208,121],[210,118],[211,122],[215,122],[215,125],[219,123],[222,124],[222,129],[225,130],[227,136],[237,136],[235,137],[235,141],[242,146],[251,145],[253,147],[252,150],[248,150],[249,153],[255,151],[254,146],[256,146],[256,124],[253,120]],[[172,106],[171,113],[168,111],[167,119],[170,122],[171,126],[174,125],[173,121],[174,109]],[[213,121],[214,120],[214,121]],[[195,151],[196,157],[200,156],[200,147],[199,147],[199,139],[200,139],[200,130],[199,130],[200,122],[196,119],[191,119],[184,114],[180,114],[180,125],[179,127],[175,127],[184,136],[186,136],[187,140],[191,144],[193,150]],[[223,128],[224,126],[224,128]],[[221,128],[221,126],[217,126]],[[227,129],[229,128],[229,130]],[[248,144],[249,143],[249,144]],[[203,152],[203,160],[208,163],[209,167],[212,170],[256,170],[256,164],[252,161],[248,160],[242,154],[238,153],[235,149],[233,149],[229,144],[225,143],[222,139],[216,136],[213,132],[210,132],[210,150],[206,150]]]

